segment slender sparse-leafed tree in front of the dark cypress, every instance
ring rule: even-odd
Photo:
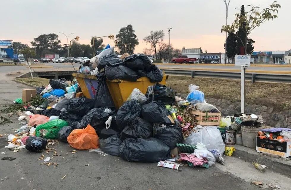
[[[235,33],[238,37],[238,39],[241,42],[241,45],[243,45],[245,49],[245,54],[247,53],[247,38],[248,35],[257,27],[259,27],[262,23],[273,20],[274,18],[278,18],[277,15],[274,13],[278,13],[278,9],[281,8],[281,5],[277,4],[277,1],[274,1],[272,4],[270,4],[265,9],[260,10],[260,7],[258,6],[251,6],[248,5],[247,7],[250,7],[250,10],[248,12],[244,12],[244,14],[237,13],[235,14],[236,18],[233,21],[232,25],[223,25],[221,32],[233,32],[235,33],[235,30],[240,30],[245,35],[239,36],[240,34]]]

